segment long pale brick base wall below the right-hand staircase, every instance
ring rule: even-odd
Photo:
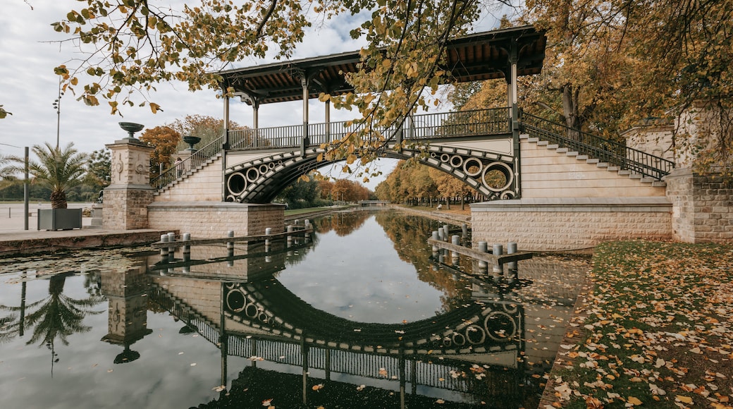
[[[671,238],[664,197],[548,198],[471,204],[473,241],[520,250],[570,251],[607,240]]]

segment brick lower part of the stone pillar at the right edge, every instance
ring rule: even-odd
[[[720,177],[679,169],[666,177],[672,202],[672,233],[687,243],[733,240],[733,186]]]

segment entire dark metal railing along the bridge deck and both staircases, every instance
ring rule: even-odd
[[[609,141],[590,133],[568,128],[547,119],[520,112],[520,127],[531,136],[559,144],[570,150],[611,163],[621,169],[660,180],[674,169],[674,162],[624,144]],[[347,126],[349,125],[349,126]],[[364,129],[354,122],[323,122],[308,125],[309,147],[317,147],[344,138],[349,133]],[[438,114],[420,114],[408,117],[401,128],[378,129],[384,137],[400,136],[405,140],[429,140],[465,136],[490,136],[511,133],[510,108],[476,109]],[[229,130],[229,148],[232,150],[298,149],[303,141],[303,125],[272,128]],[[221,152],[224,137],[211,141],[191,157],[166,169],[150,181],[155,188],[163,188],[191,172]]]

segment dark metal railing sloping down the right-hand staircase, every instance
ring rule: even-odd
[[[672,161],[532,114],[520,114],[520,127],[532,137],[652,179],[661,180],[674,169]]]

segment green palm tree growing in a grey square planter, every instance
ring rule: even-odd
[[[48,142],[34,145],[33,153],[38,161],[29,161],[28,171],[32,174],[32,183],[40,183],[51,189],[51,208],[65,209],[66,192],[84,183],[86,172],[86,154],[73,148],[73,142],[60,149]],[[12,161],[23,163],[23,158],[13,157]],[[14,172],[21,171],[21,166],[11,166]]]

